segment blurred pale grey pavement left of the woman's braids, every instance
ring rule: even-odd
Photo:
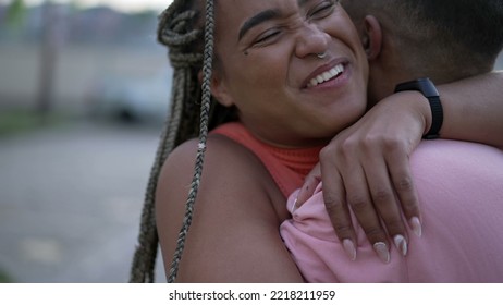
[[[78,123],[0,138],[0,270],[14,282],[127,282],[158,134]]]

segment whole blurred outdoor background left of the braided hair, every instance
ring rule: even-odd
[[[0,0],[0,282],[128,280],[168,112],[155,33],[170,2]]]

